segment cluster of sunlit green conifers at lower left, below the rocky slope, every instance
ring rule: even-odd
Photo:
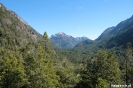
[[[0,47],[1,88],[63,88],[51,61],[51,47],[48,41],[43,43],[47,46],[29,43],[18,50],[9,42],[7,49]]]

